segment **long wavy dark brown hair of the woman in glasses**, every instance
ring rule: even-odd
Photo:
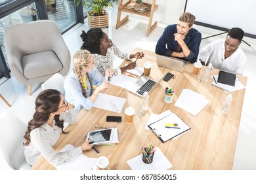
[[[52,112],[56,112],[58,110],[58,106],[60,105],[61,95],[58,90],[48,89],[43,90],[37,95],[35,99],[35,113],[33,114],[33,119],[28,122],[28,131],[26,131],[24,135],[25,142],[23,144],[28,146],[30,144],[30,132],[45,124],[47,120],[49,120],[49,116]],[[60,115],[54,116],[56,126],[60,127],[62,133],[66,134],[63,131],[63,120],[60,120]]]

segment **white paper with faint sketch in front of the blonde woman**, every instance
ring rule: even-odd
[[[120,113],[125,101],[126,99],[121,97],[115,97],[105,93],[98,93],[98,99],[96,99],[93,107]]]

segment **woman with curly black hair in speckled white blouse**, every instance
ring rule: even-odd
[[[89,29],[87,33],[82,31],[80,37],[83,40],[81,49],[91,52],[95,59],[95,68],[102,76],[105,75],[107,69],[113,69],[114,55],[121,59],[142,58],[144,56],[142,52],[136,54],[121,52],[100,28]],[[125,67],[114,69],[114,75],[120,75],[122,72],[135,67],[136,63],[131,62]]]

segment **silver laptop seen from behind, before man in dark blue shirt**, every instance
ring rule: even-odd
[[[160,67],[165,67],[179,72],[183,72],[186,66],[186,61],[182,59],[160,56],[158,54],[156,54],[156,63]]]

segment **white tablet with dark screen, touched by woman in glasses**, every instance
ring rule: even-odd
[[[91,144],[107,144],[112,142],[114,128],[90,131],[87,134],[87,140],[93,138]]]

